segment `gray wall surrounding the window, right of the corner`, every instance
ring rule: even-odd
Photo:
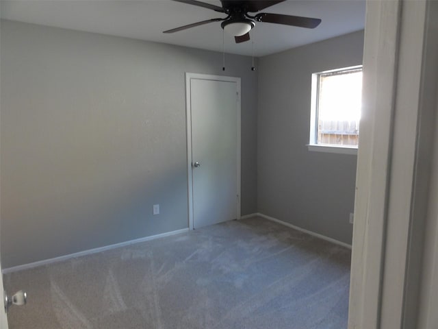
[[[258,210],[351,243],[357,156],[308,151],[311,74],[362,64],[363,32],[259,59]]]

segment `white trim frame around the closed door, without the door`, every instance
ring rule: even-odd
[[[188,186],[188,224],[189,230],[194,228],[193,217],[193,177],[192,177],[192,84],[191,80],[214,80],[222,82],[235,82],[237,88],[237,214],[236,218],[240,219],[240,200],[242,199],[240,193],[240,172],[241,172],[241,97],[240,97],[240,77],[227,77],[223,75],[209,75],[201,73],[185,73],[185,119],[186,119],[186,132],[187,132],[187,186]]]

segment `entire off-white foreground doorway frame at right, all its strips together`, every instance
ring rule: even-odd
[[[424,202],[436,202],[432,3],[367,1],[348,328],[417,328]]]

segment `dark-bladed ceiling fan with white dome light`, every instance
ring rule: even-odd
[[[307,27],[308,29],[314,29],[321,23],[320,19],[311,19],[309,17],[302,16],[270,14],[266,12],[261,12],[255,16],[248,14],[248,12],[259,12],[260,10],[266,9],[271,5],[275,5],[276,3],[280,3],[285,0],[220,0],[222,7],[196,0],[173,1],[188,3],[189,5],[197,5],[199,7],[214,10],[215,12],[222,12],[227,14],[227,17],[224,19],[207,19],[206,21],[176,27],[175,29],[168,29],[163,33],[179,32],[183,29],[190,29],[190,27],[222,21],[220,24],[222,29],[224,29],[224,31],[231,36],[234,36],[236,43],[240,43],[250,40],[249,32],[253,27],[255,27],[255,22],[292,25],[298,27]]]

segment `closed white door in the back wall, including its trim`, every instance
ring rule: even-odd
[[[190,227],[201,228],[240,217],[240,78],[188,73],[187,88]]]

